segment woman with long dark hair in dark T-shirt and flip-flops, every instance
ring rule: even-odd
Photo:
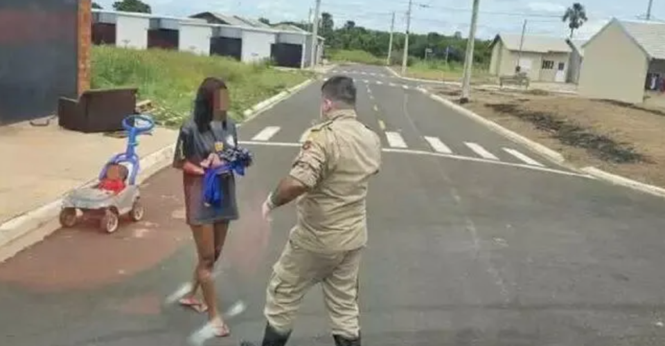
[[[197,91],[192,119],[180,128],[173,163],[183,171],[186,222],[198,253],[192,290],[179,303],[198,312],[207,311],[214,334],[219,337],[228,336],[230,331],[218,310],[213,266],[222,254],[229,222],[238,219],[234,176],[217,176],[223,196],[219,206],[205,203],[203,190],[205,169],[222,164],[215,152],[238,143],[236,125],[227,118],[228,109],[226,84],[217,78],[206,78]],[[204,302],[195,298],[199,286]]]

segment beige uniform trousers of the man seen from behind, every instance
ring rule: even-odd
[[[356,338],[360,331],[358,309],[358,268],[362,248],[323,254],[287,242],[273,266],[267,287],[264,314],[277,331],[292,329],[305,293],[321,284],[323,302],[333,335]]]

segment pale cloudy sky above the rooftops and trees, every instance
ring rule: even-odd
[[[246,17],[266,17],[271,21],[305,21],[315,0],[143,0],[159,15],[183,16],[203,11]],[[577,0],[579,1],[579,0]],[[574,38],[587,39],[612,17],[644,18],[649,0],[582,0],[587,21]],[[114,0],[96,0],[111,9]],[[567,36],[569,29],[560,19],[574,0],[480,0],[477,37],[490,39],[497,33],[522,32],[526,19],[527,35]],[[630,6],[626,3],[630,2]],[[347,20],[357,26],[390,30],[392,12],[395,30],[404,32],[408,0],[321,0],[321,12],[329,12],[335,26]],[[468,36],[472,0],[414,0],[411,32],[436,32]],[[653,0],[652,19],[665,21],[665,0]]]

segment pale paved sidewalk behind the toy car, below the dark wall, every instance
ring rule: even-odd
[[[38,121],[42,122],[42,121]],[[141,136],[141,158],[175,143],[175,131],[157,128]],[[44,206],[96,178],[103,164],[125,150],[126,139],[68,131],[51,120],[0,127],[0,224]]]

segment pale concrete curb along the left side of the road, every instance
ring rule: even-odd
[[[310,78],[301,84],[274,95],[272,98],[258,102],[244,112],[245,119],[243,122],[247,122],[260,113],[274,107],[275,104],[305,89],[312,82],[314,82],[314,79]],[[240,125],[242,123],[238,124],[238,127]],[[150,176],[170,165],[174,151],[175,144],[172,144],[141,158],[141,172],[137,179],[138,183],[143,183]],[[96,181],[95,177],[79,188],[89,186]],[[57,218],[60,214],[62,197],[0,224],[0,263],[8,260],[25,248],[41,242],[48,235],[51,235],[51,233],[60,228],[60,222]]]

